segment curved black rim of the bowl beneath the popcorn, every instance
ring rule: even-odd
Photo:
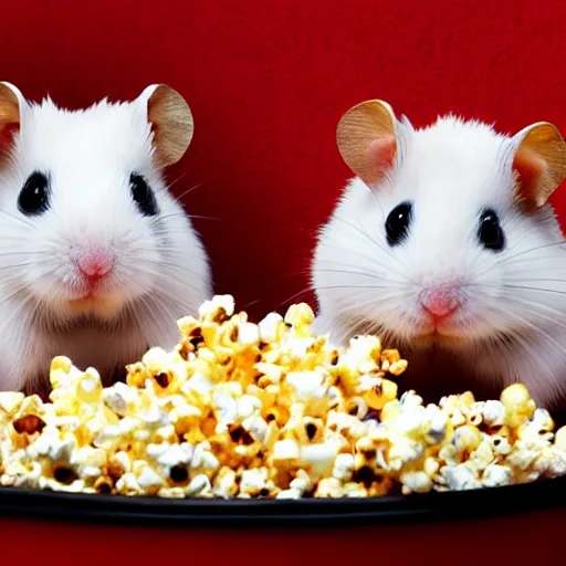
[[[0,515],[153,526],[294,526],[470,520],[566,509],[566,475],[475,490],[303,500],[165,499],[0,488]]]

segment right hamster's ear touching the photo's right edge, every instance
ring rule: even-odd
[[[517,198],[528,208],[541,208],[566,179],[566,143],[558,128],[538,122],[516,134],[513,158]]]

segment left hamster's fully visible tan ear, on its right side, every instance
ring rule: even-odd
[[[195,130],[189,105],[166,84],[148,86],[138,101],[146,106],[151,124],[155,166],[160,169],[176,164],[187,151]]]

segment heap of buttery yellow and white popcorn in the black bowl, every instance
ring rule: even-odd
[[[163,497],[368,497],[566,473],[566,428],[522,385],[423,405],[379,338],[335,349],[293,305],[259,324],[230,295],[178,321],[127,381],[51,366],[51,402],[0,394],[0,484]]]

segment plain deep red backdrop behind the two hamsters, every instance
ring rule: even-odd
[[[416,125],[451,111],[509,132],[543,119],[566,132],[560,0],[0,7],[0,78],[32,99],[50,93],[84,106],[105,95],[132,98],[155,82],[187,98],[195,138],[170,180],[179,179],[177,195],[203,184],[185,202],[218,219],[196,222],[217,291],[254,315],[307,285],[313,232],[349,174],[334,142],[349,106],[380,97]],[[566,211],[566,192],[555,202]]]

